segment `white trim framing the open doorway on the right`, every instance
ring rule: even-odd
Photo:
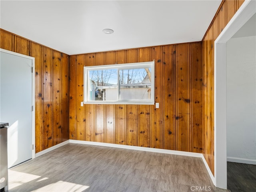
[[[227,188],[227,42],[255,13],[256,1],[245,1],[214,42],[214,182],[219,188]]]

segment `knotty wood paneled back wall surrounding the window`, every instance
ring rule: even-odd
[[[80,106],[84,66],[152,60],[159,108]],[[70,56],[70,139],[202,153],[202,43]]]

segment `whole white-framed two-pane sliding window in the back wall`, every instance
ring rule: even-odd
[[[154,61],[84,67],[84,103],[154,104]]]

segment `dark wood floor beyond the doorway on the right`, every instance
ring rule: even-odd
[[[232,192],[256,192],[256,165],[227,162],[228,189]]]

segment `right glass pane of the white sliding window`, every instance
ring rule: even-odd
[[[120,99],[151,99],[151,68],[119,70]]]

